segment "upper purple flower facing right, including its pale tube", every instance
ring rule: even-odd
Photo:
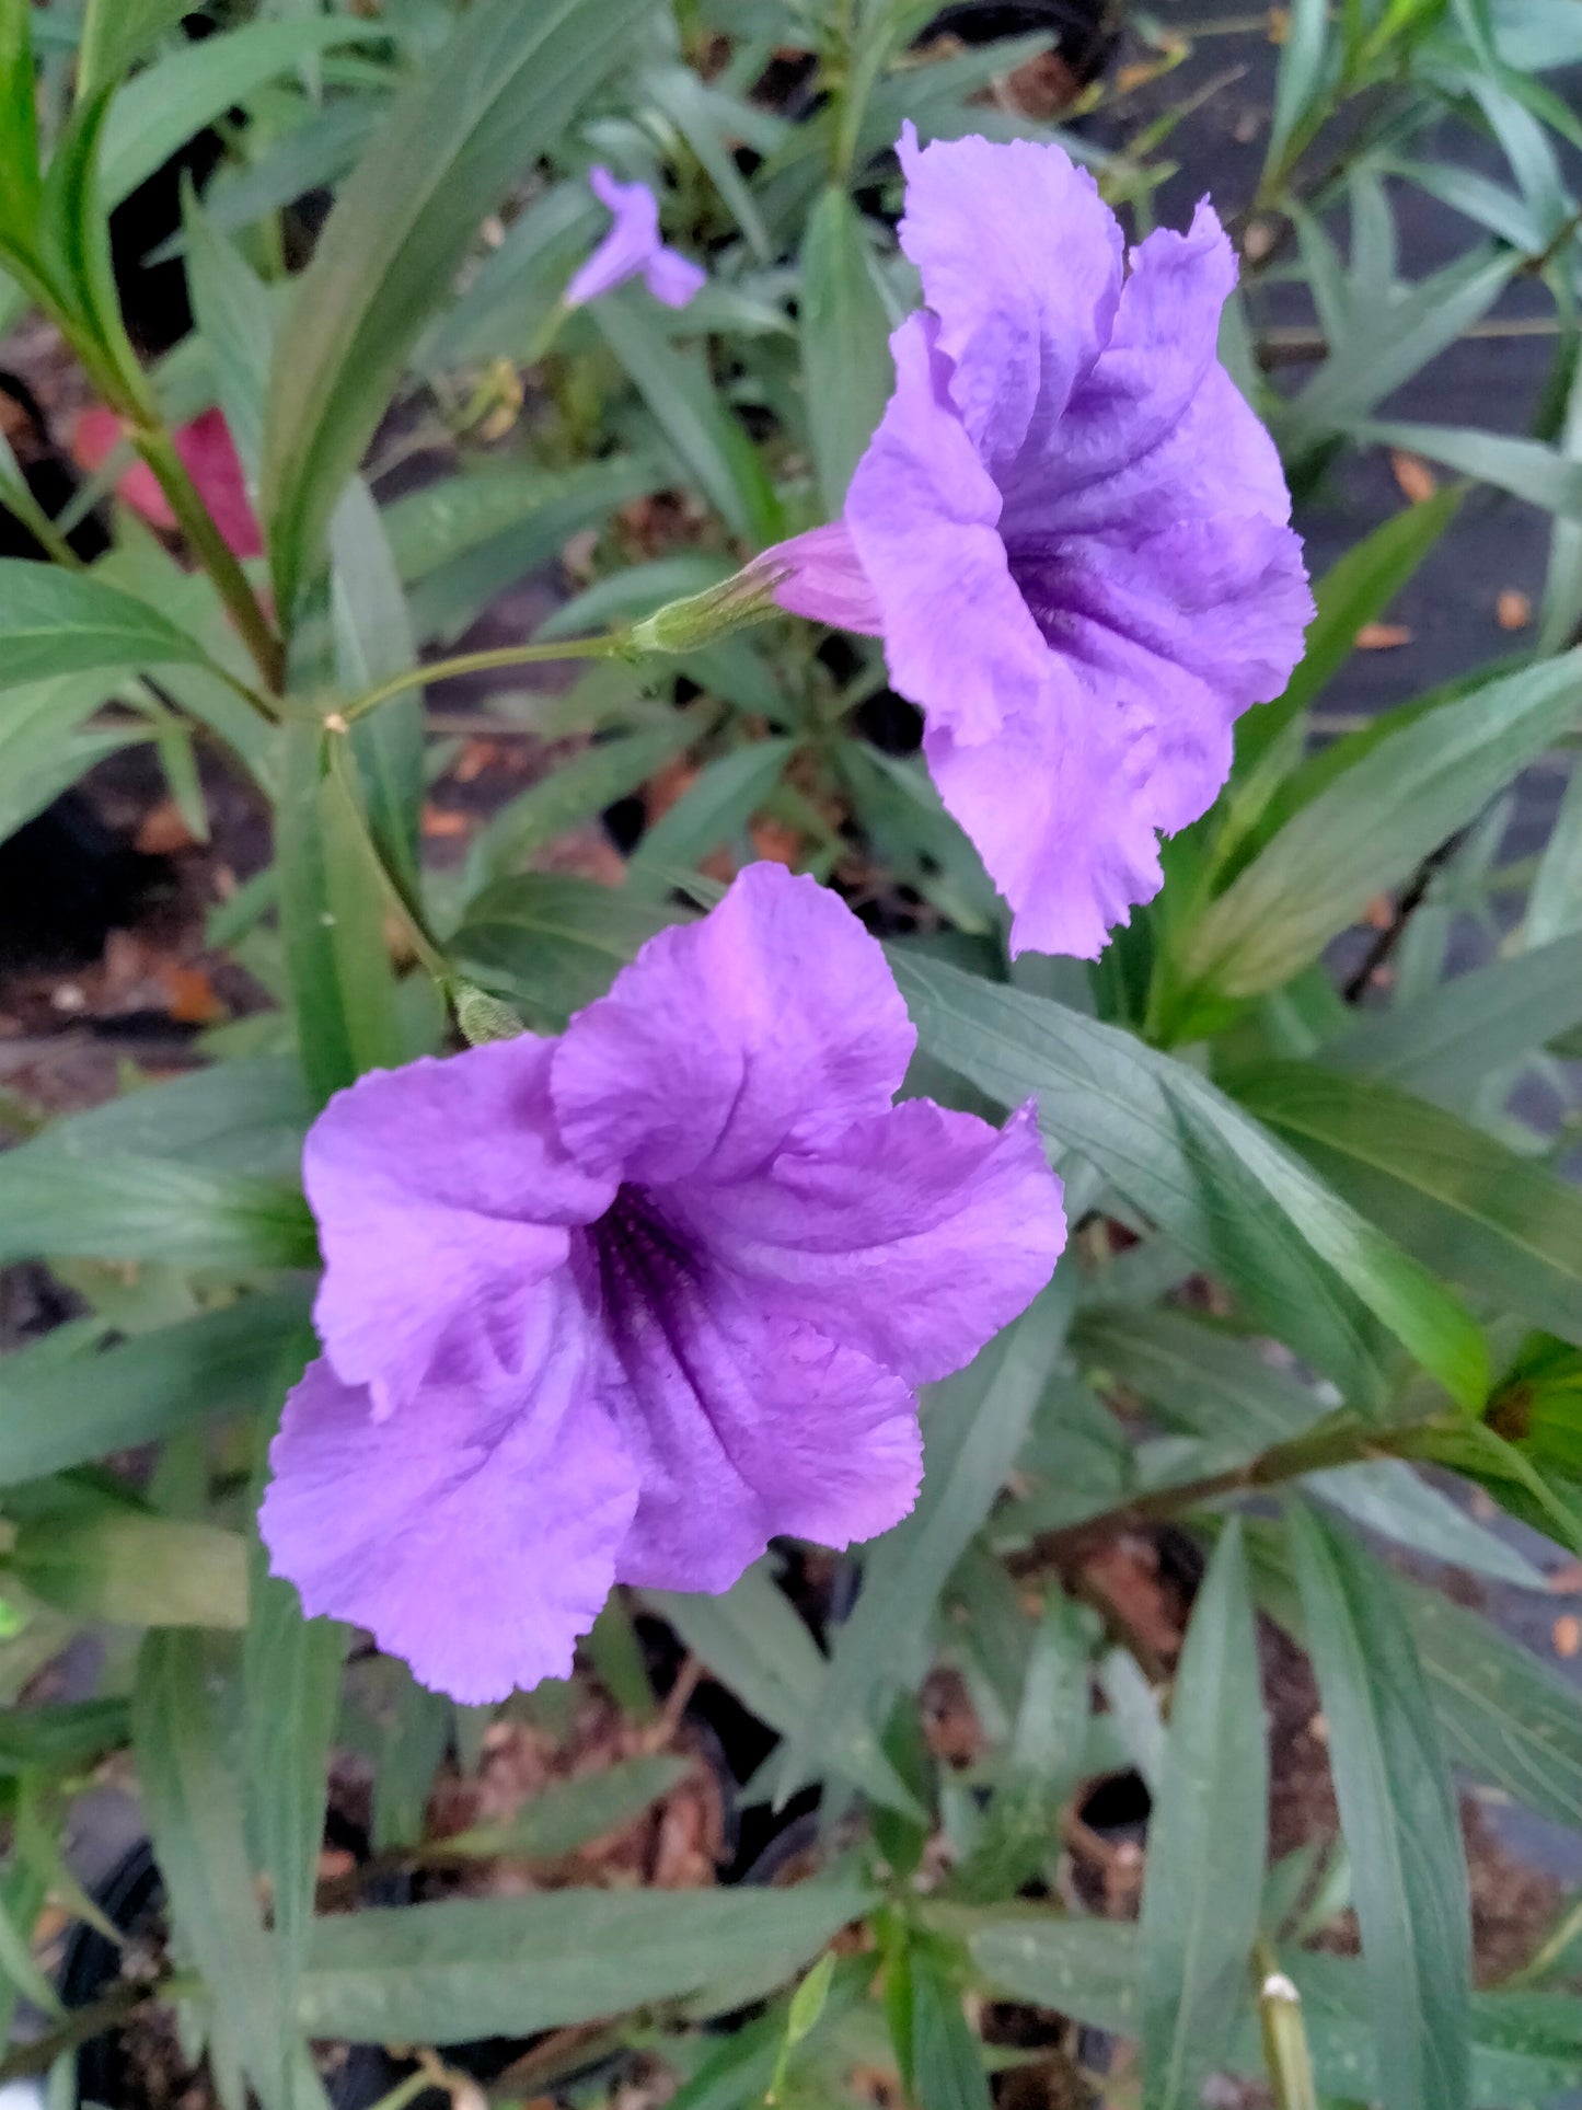
[[[1097,958],[1211,804],[1312,616],[1274,445],[1215,357],[1209,205],[1131,253],[1055,146],[901,139],[926,308],[835,528],[776,599],[884,637],[1012,950]]]

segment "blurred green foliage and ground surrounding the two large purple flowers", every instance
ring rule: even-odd
[[[1576,0],[0,0],[6,2078],[1576,2091],[1578,68]],[[837,513],[907,118],[1059,139],[1135,234],[1207,169],[1310,532],[1308,656],[1097,968],[1008,966],[861,639],[458,675],[327,764],[422,658]],[[595,160],[683,312],[557,312]],[[304,1127],[447,1044],[435,947],[557,1030],[751,857],[886,939],[915,1089],[1038,1093],[1072,1251],[886,1540],[458,1709],[255,1542]]]

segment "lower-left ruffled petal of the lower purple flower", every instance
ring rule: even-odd
[[[327,1359],[287,1401],[259,1530],[274,1574],[464,1703],[565,1677],[616,1574],[637,1471],[586,1384],[586,1319],[548,1291],[532,1378],[437,1386],[375,1422]]]

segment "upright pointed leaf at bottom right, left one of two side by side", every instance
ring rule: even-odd
[[[1190,2110],[1249,2004],[1270,1762],[1240,1519],[1192,1608],[1141,1912],[1143,2104]]]

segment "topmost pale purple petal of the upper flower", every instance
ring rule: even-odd
[[[939,316],[951,403],[1004,483],[1025,452],[1042,456],[1110,340],[1120,226],[1086,169],[1057,146],[941,139],[920,150],[907,124],[899,154],[901,247]]]

